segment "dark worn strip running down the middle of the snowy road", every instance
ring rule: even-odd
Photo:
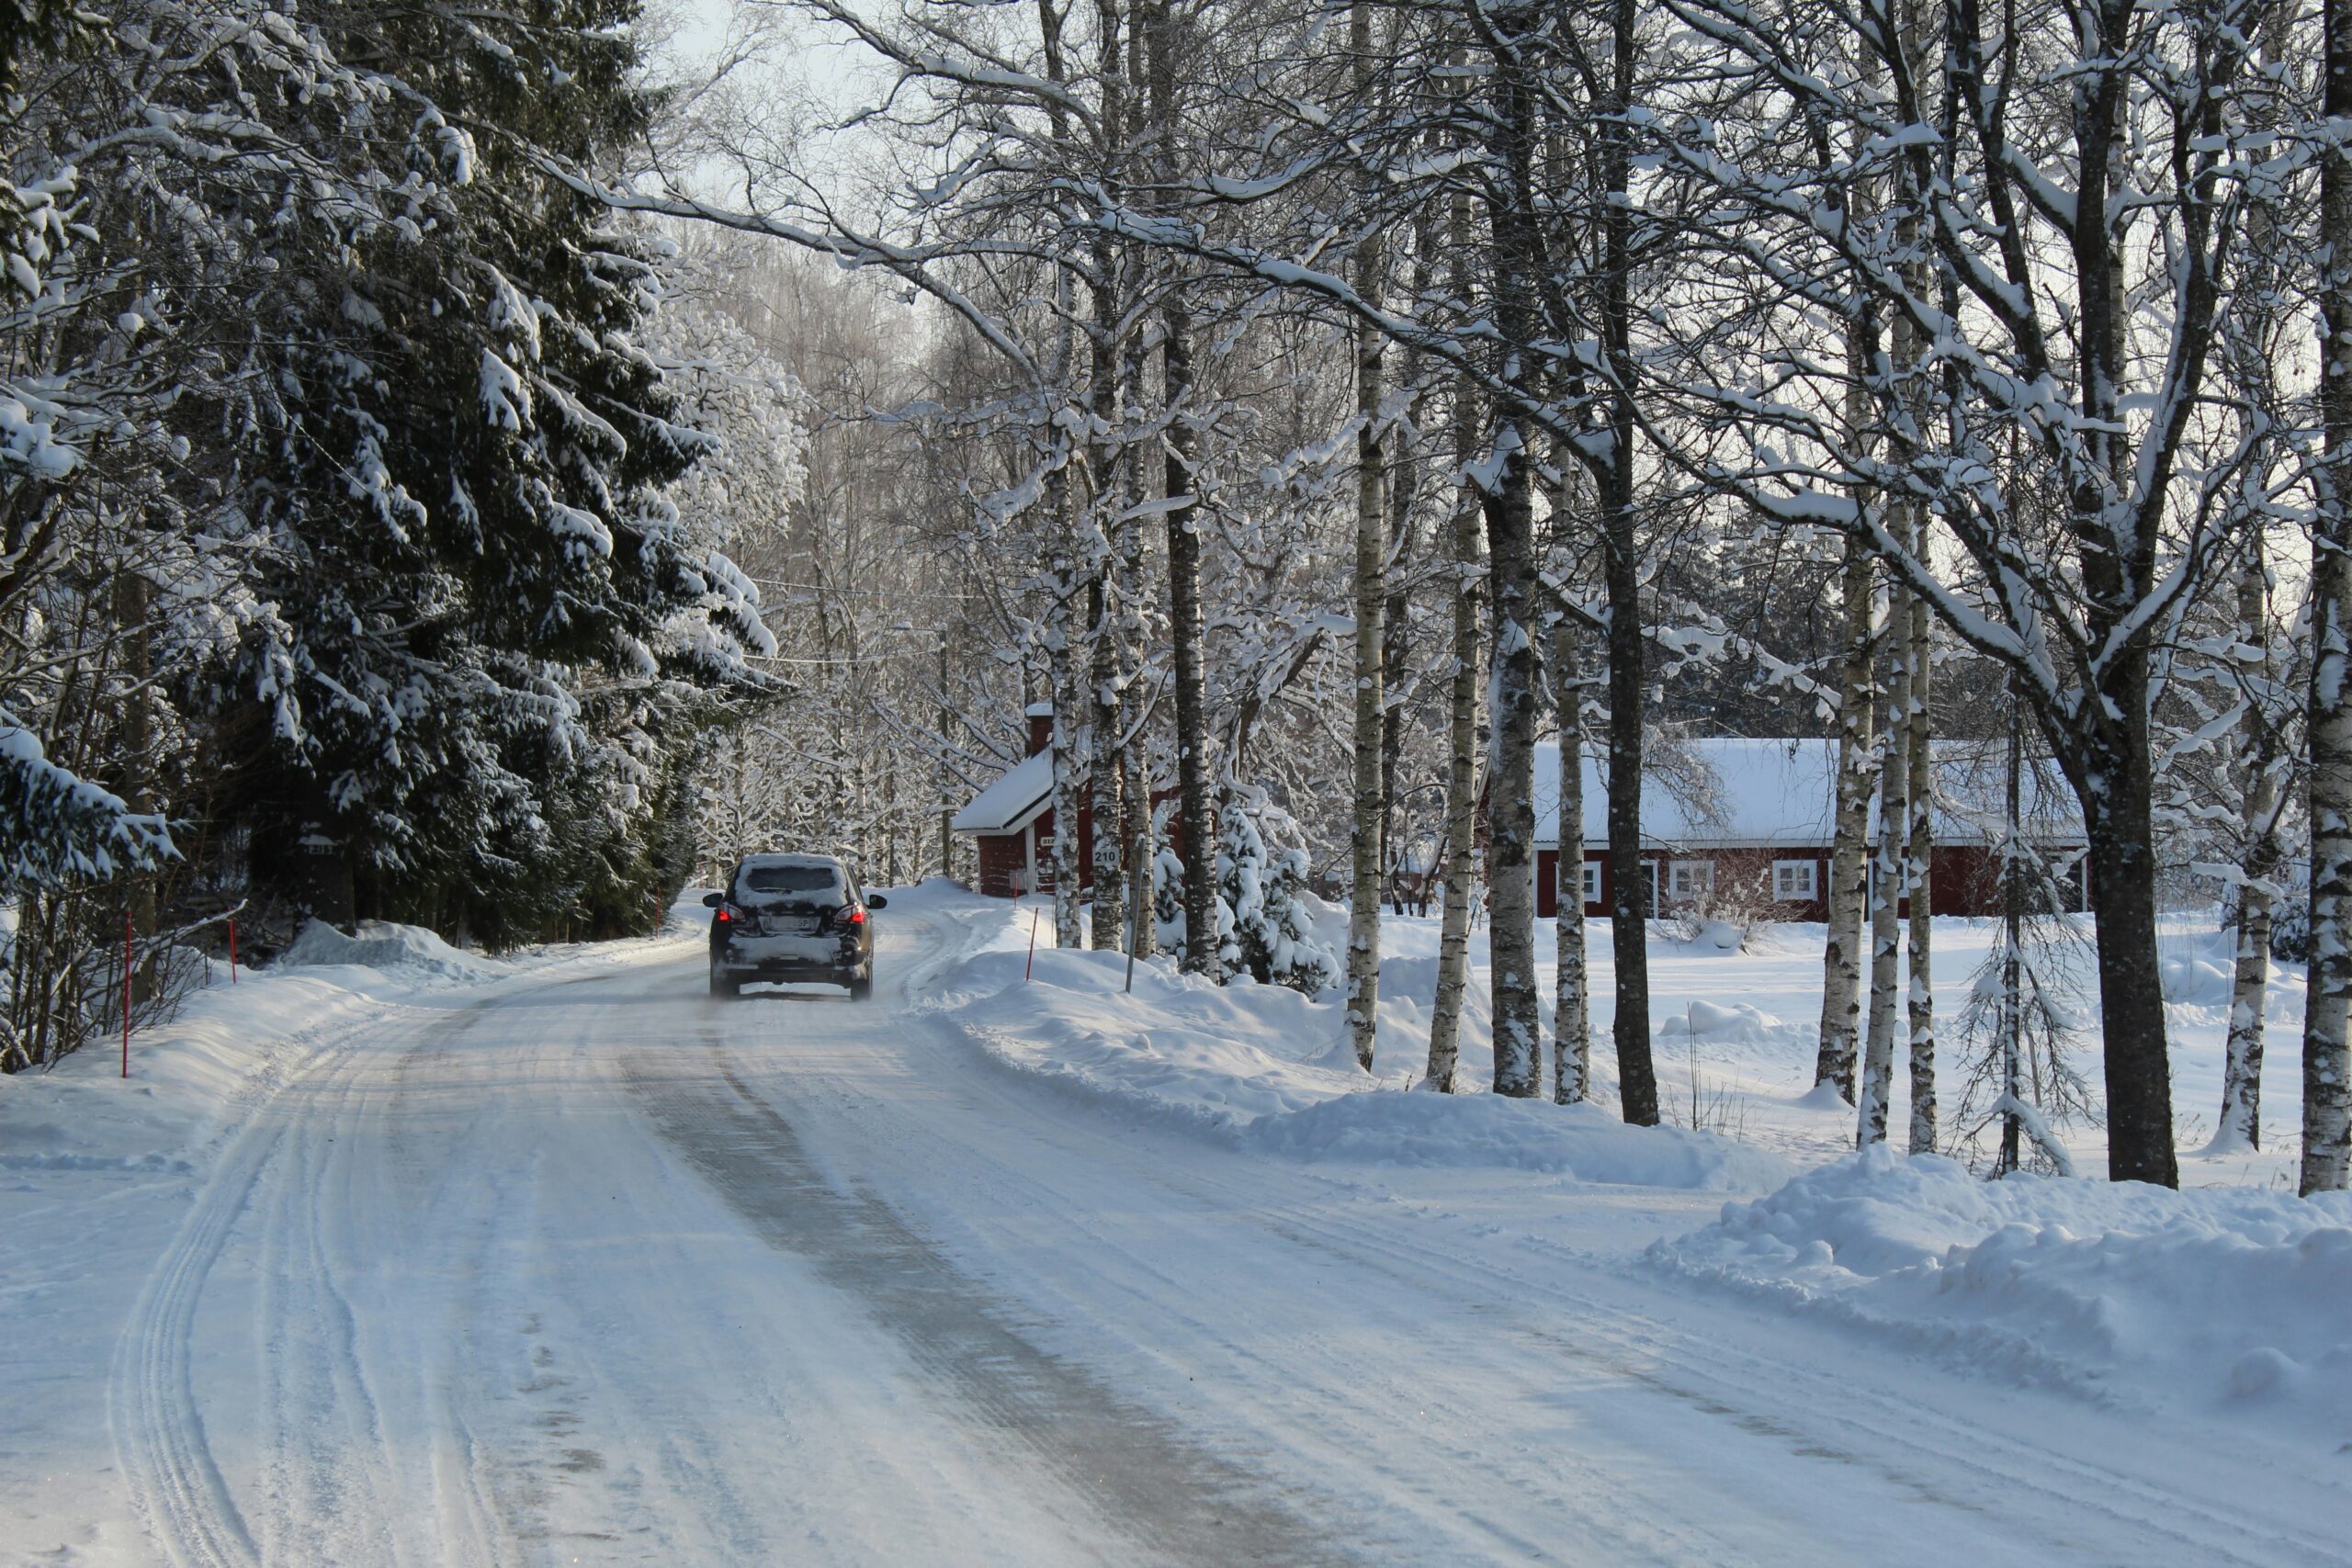
[[[1244,1469],[1091,1371],[1037,1349],[981,1288],[880,1199],[823,1180],[724,1048],[677,1072],[626,1053],[621,1074],[654,1128],[771,1246],[807,1258],[894,1335],[955,1408],[1016,1441],[1148,1559],[1174,1563],[1352,1561]]]

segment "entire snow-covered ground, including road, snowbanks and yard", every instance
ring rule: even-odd
[[[1432,922],[1367,1081],[946,886],[858,1006],[708,999],[699,919],[320,936],[0,1079],[0,1563],[2352,1561],[2352,1208],[1846,1154],[1818,931],[1653,947],[1632,1131],[1602,926],[1562,1110],[1406,1093]]]

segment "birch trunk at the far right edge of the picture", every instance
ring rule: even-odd
[[[2352,0],[2324,0],[2321,113],[2352,122]],[[2312,517],[2312,983],[2303,1004],[2303,1192],[2352,1175],[2352,146],[2319,167],[2319,411],[2324,461]]]

